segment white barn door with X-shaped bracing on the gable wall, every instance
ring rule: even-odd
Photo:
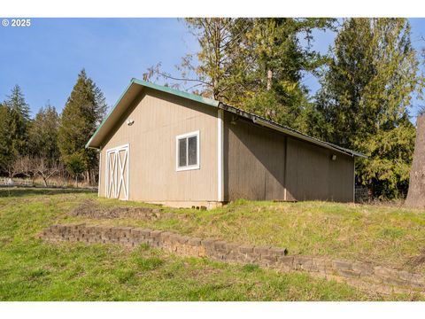
[[[128,144],[106,151],[105,190],[107,198],[128,200]]]

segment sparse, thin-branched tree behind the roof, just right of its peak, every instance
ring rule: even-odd
[[[240,50],[237,42],[247,27],[239,23],[241,20],[233,18],[188,18],[185,21],[190,33],[197,37],[201,50],[197,55],[187,54],[182,58],[181,65],[176,66],[180,76],[161,71],[161,63],[158,63],[148,68],[143,80],[171,80],[175,89],[228,100],[228,93],[236,85],[229,78],[230,69],[235,67],[236,51]],[[194,63],[194,58],[200,63]]]

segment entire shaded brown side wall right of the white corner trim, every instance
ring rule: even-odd
[[[351,156],[331,160],[330,150],[234,117],[225,114],[225,200],[353,200]]]

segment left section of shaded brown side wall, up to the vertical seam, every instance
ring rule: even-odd
[[[285,136],[224,116],[224,198],[283,199]]]

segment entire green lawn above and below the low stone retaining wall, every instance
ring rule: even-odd
[[[356,253],[362,257],[370,253],[375,259],[400,265],[397,254],[406,259],[419,253],[423,244],[425,214],[421,212],[241,201],[208,212],[166,209],[186,217],[151,222],[69,215],[88,201],[98,206],[143,205],[98,199],[97,194],[81,191],[0,190],[0,300],[422,299],[418,295],[359,292],[347,284],[305,274],[280,274],[255,265],[182,258],[143,245],[128,251],[117,245],[50,245],[35,237],[51,224],[85,220],[284,245],[290,254],[351,258]],[[352,240],[357,242],[350,243]]]

